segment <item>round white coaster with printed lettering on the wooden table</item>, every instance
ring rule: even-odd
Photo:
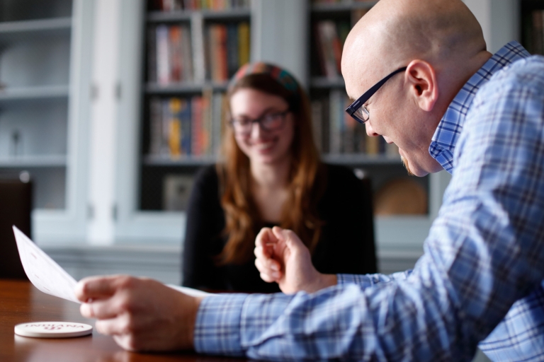
[[[15,334],[35,338],[70,338],[91,334],[93,326],[75,322],[29,322],[15,326]]]

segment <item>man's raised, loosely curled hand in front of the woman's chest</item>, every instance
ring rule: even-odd
[[[261,279],[276,281],[283,293],[319,289],[336,284],[336,275],[321,274],[312,264],[310,250],[291,230],[262,228],[255,240],[255,266]]]

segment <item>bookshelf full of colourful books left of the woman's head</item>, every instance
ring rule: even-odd
[[[183,211],[166,184],[215,162],[227,81],[249,61],[249,1],[196,4],[147,1],[140,210]]]

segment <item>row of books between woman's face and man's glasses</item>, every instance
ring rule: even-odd
[[[341,89],[332,89],[328,96],[312,100],[314,137],[319,151],[331,155],[398,156],[395,144],[387,144],[383,137],[368,136],[365,126],[346,113],[350,104],[351,100]]]

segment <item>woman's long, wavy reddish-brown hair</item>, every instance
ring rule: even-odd
[[[279,96],[293,112],[295,132],[290,147],[289,196],[283,204],[280,226],[295,231],[312,252],[322,229],[317,202],[322,197],[327,180],[314,144],[310,101],[298,84],[295,91],[289,91],[269,74],[249,74],[229,88],[228,107],[232,95],[242,88]],[[256,233],[264,223],[251,196],[249,158],[238,147],[230,125],[225,127],[223,134],[222,156],[224,162],[217,163],[217,175],[220,177],[221,205],[225,211],[223,233],[228,240],[216,262],[243,264],[254,257]]]

